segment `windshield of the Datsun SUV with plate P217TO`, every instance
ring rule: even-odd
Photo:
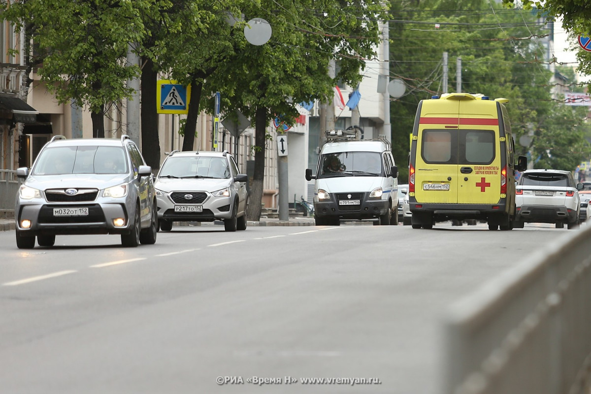
[[[230,168],[225,157],[172,156],[164,162],[158,177],[227,179]]]

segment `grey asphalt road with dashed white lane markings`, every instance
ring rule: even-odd
[[[438,394],[446,307],[576,231],[209,225],[33,250],[0,232],[0,392]]]

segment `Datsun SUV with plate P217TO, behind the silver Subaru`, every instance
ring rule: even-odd
[[[171,152],[154,184],[160,230],[214,220],[223,220],[226,231],[246,230],[247,182],[226,151]]]

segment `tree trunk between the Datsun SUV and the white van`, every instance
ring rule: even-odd
[[[265,135],[267,134],[267,108],[257,108],[255,113],[255,171],[251,194],[248,198],[246,217],[258,222],[261,219],[263,179],[265,178]]]

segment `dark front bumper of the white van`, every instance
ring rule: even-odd
[[[352,198],[348,198],[352,195]],[[328,201],[314,201],[314,216],[339,219],[375,219],[389,210],[387,200],[369,200],[369,193],[332,193]],[[340,201],[359,199],[360,204],[342,205]]]

